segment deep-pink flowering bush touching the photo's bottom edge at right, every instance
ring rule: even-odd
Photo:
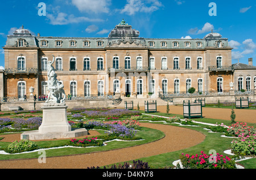
[[[207,155],[201,151],[201,155],[180,155],[181,165],[185,169],[234,169],[236,163],[228,156],[216,153],[216,156]],[[180,168],[178,165],[177,168]]]

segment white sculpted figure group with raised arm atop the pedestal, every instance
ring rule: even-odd
[[[64,103],[65,102],[65,91],[64,91],[64,85],[61,84],[57,80],[57,74],[55,73],[55,69],[52,66],[52,64],[55,62],[54,55],[52,61],[47,62],[48,67],[48,98],[46,102],[56,102],[56,103]]]

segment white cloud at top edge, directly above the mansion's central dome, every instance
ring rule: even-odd
[[[134,15],[136,12],[154,12],[162,7],[158,0],[127,0],[127,4],[121,10],[121,13]]]

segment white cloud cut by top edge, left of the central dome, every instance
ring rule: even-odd
[[[111,0],[72,0],[81,12],[108,13]]]

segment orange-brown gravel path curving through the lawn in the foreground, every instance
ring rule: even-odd
[[[4,160],[0,161],[0,169],[79,169],[90,166],[104,166],[115,162],[129,161],[137,158],[178,151],[199,144],[205,139],[205,136],[200,132],[183,127],[154,123],[141,123],[141,126],[163,131],[166,136],[156,142],[135,147],[115,149],[113,151],[49,157],[46,158],[46,163],[39,163],[37,158],[30,160]],[[170,165],[171,163],[172,162],[170,162]]]

